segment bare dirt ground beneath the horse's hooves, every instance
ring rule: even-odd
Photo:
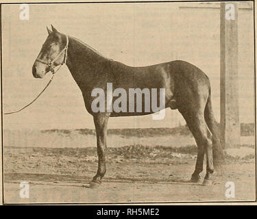
[[[225,160],[222,175],[206,187],[189,183],[196,159],[195,146],[123,146],[109,148],[107,172],[101,186],[88,185],[97,170],[95,148],[4,149],[5,203],[151,203],[197,201],[254,201],[254,155]],[[205,172],[201,176],[204,178]],[[20,198],[19,184],[29,182],[29,198]],[[225,197],[233,181],[235,198]]]

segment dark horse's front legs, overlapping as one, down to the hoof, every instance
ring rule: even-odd
[[[90,182],[90,188],[98,187],[101,184],[101,178],[106,173],[106,137],[107,137],[107,124],[110,114],[96,114],[94,116],[95,131],[97,133],[97,155],[98,155],[98,168],[97,174]]]

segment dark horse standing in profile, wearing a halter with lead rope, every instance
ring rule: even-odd
[[[90,181],[90,188],[97,188],[106,173],[106,138],[110,117],[142,116],[150,112],[93,112],[91,95],[95,88],[106,92],[106,84],[113,88],[164,88],[165,108],[178,110],[186,120],[197,143],[197,160],[191,182],[200,183],[200,172],[206,154],[206,175],[203,185],[212,185],[214,167],[222,166],[223,147],[219,129],[212,110],[210,80],[197,66],[182,60],[151,66],[127,66],[98,53],[86,43],[60,33],[53,25],[47,27],[48,36],[33,66],[32,74],[42,78],[55,68],[66,64],[79,86],[86,110],[93,116],[97,137],[98,168]],[[113,96],[113,99],[117,97]],[[107,100],[105,99],[105,104]],[[127,103],[129,104],[129,103]]]

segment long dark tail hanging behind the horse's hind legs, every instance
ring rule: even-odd
[[[215,120],[215,116],[212,110],[212,102],[210,98],[210,88],[209,88],[209,95],[208,100],[206,103],[206,107],[204,110],[204,118],[206,123],[212,132],[212,153],[213,153],[213,163],[215,168],[220,168],[224,161],[224,152],[223,147],[221,146],[221,138],[220,138],[220,131]]]

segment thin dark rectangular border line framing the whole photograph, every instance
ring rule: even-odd
[[[1,42],[0,42],[0,50],[1,50],[1,192],[2,192],[2,197],[1,198],[1,202],[2,205],[153,205],[153,204],[157,204],[157,205],[183,205],[183,204],[188,204],[188,205],[196,205],[196,204],[206,204],[206,205],[210,205],[212,203],[215,204],[225,204],[225,205],[229,205],[232,203],[236,203],[236,204],[245,204],[245,203],[252,203],[252,204],[257,204],[257,172],[256,172],[256,164],[257,164],[257,153],[256,153],[256,16],[255,16],[255,7],[256,7],[256,3],[254,0],[245,0],[245,1],[240,1],[240,0],[233,0],[233,1],[38,1],[38,2],[0,2],[0,10],[2,12],[2,5],[19,5],[22,3],[27,3],[29,5],[32,4],[114,4],[114,3],[204,3],[204,2],[213,2],[213,3],[219,3],[219,2],[252,2],[253,3],[253,12],[254,12],[254,140],[255,140],[255,201],[151,201],[151,202],[95,202],[95,203],[5,203],[4,201],[4,168],[3,168],[3,80],[2,80],[2,16],[3,14],[1,13],[1,18],[0,18],[0,38],[1,38]]]

